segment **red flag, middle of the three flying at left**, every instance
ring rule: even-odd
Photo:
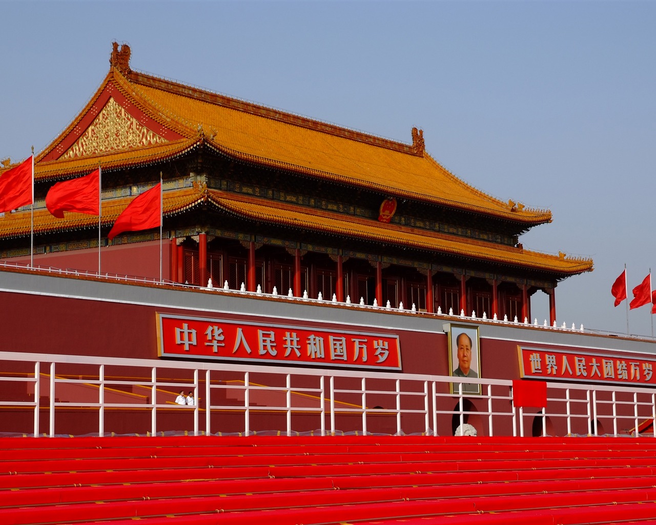
[[[99,178],[100,170],[96,169],[86,177],[57,182],[45,196],[48,211],[59,219],[64,219],[64,211],[98,215]]]

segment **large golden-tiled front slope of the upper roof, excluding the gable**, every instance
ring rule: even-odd
[[[512,222],[541,224],[551,220],[550,211],[520,210],[477,190],[425,152],[401,152],[354,140],[348,130],[310,129],[293,123],[293,116],[292,122],[285,121],[281,114],[272,118],[266,112],[262,115],[226,107],[145,83],[135,85],[134,94],[167,108],[178,121],[200,125],[209,136],[209,144],[236,158]]]

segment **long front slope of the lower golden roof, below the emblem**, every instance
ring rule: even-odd
[[[592,270],[591,259],[548,255],[525,250],[522,247],[455,237],[440,232],[426,230],[419,232],[415,228],[398,224],[384,224],[371,221],[371,219],[351,216],[346,218],[342,214],[330,211],[300,208],[261,198],[228,194],[219,190],[209,190],[209,201],[225,211],[245,219],[266,221],[300,230],[337,234],[352,240],[367,240],[423,249],[433,254],[447,254],[476,261],[491,261],[520,268],[532,268],[560,276],[571,276]]]

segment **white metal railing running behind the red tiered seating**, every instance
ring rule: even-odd
[[[481,385],[482,394],[462,392],[464,381]],[[450,393],[451,384],[457,393]],[[193,408],[174,404],[180,390],[194,392]],[[72,410],[83,411],[85,422],[96,413],[97,425],[85,433],[100,436],[115,431],[108,415],[116,410],[127,421],[148,411],[152,435],[188,431],[175,419],[181,413],[192,414],[194,435],[264,430],[452,435],[455,426],[473,422],[489,436],[619,436],[656,415],[655,393],[647,388],[548,383],[548,412],[525,413],[512,399],[512,381],[502,379],[0,352],[0,432],[34,436],[74,433],[66,427]],[[26,421],[30,411],[31,428],[16,428],[17,414]],[[277,429],[264,426],[272,421],[280,422],[274,423]],[[526,421],[533,422],[531,432],[525,431]],[[602,432],[602,425],[612,431]],[[656,437],[656,425],[650,435]]]

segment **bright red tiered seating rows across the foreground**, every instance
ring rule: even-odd
[[[0,524],[656,522],[656,440],[0,440]]]

